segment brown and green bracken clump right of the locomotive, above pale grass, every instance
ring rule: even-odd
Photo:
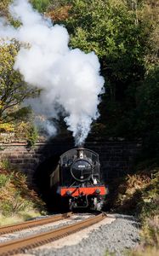
[[[159,169],[147,168],[118,181],[114,209],[138,214],[139,218],[155,216],[159,211]]]

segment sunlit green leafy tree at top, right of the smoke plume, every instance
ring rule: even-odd
[[[123,1],[73,0],[67,27],[71,46],[99,55],[109,80],[135,79],[143,65],[145,31]],[[144,38],[143,38],[144,37]],[[142,71],[142,70],[141,70]]]

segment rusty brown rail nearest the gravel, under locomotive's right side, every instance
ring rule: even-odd
[[[69,212],[71,214],[71,212]],[[92,224],[96,224],[105,218],[105,213],[99,212],[95,217],[87,218],[76,224],[66,225],[56,230],[50,230],[37,235],[28,236],[15,241],[7,241],[0,244],[0,255],[9,256],[16,253],[23,253],[25,250],[41,246],[45,243],[55,241],[61,237],[71,235],[79,230],[85,229]]]

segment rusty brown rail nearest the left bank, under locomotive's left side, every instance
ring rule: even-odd
[[[71,217],[71,214],[72,214],[72,212],[66,212],[63,214],[57,214],[53,217],[40,218],[40,219],[35,219],[35,220],[29,220],[29,221],[26,221],[26,222],[23,222],[20,224],[3,226],[3,227],[0,227],[0,235],[12,233],[12,232],[19,231],[19,230],[30,229],[30,228],[37,227],[37,226],[43,225],[43,224],[53,223],[53,222],[61,220],[63,218],[69,218],[69,217]]]

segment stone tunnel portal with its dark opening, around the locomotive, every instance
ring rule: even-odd
[[[37,143],[27,148],[26,143],[0,143],[0,160],[9,160],[10,166],[26,174],[31,189],[46,202],[48,209],[56,204],[50,191],[50,174],[54,171],[65,151],[75,148],[70,137],[54,138],[53,141]],[[131,172],[133,160],[141,150],[141,143],[126,141],[92,140],[84,148],[99,154],[104,182],[123,177]]]

